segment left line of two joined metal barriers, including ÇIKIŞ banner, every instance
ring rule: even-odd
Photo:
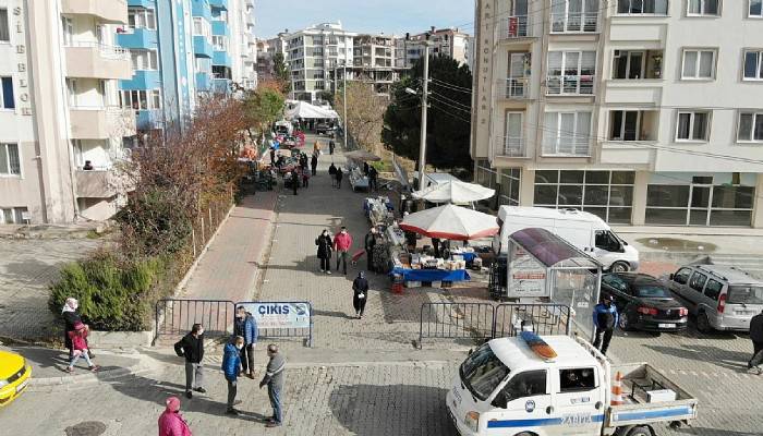
[[[305,338],[313,346],[313,305],[306,301],[159,300],[156,338],[185,335],[194,324],[202,324],[208,336],[231,336],[240,306],[257,322],[258,338]]]

